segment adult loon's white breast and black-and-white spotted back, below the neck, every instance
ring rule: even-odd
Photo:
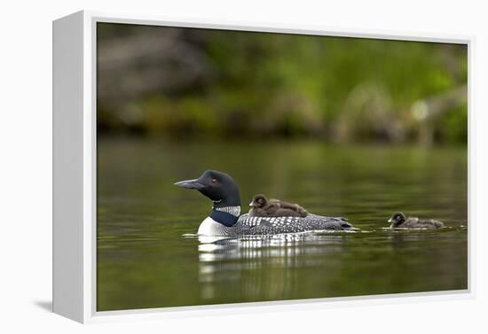
[[[210,221],[207,221],[210,220]],[[218,236],[256,236],[297,233],[313,230],[347,230],[354,227],[342,217],[308,214],[306,217],[254,217],[242,214],[233,226],[224,226],[208,218],[199,234]]]

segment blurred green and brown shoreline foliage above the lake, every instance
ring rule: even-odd
[[[463,144],[463,44],[98,23],[98,134]]]

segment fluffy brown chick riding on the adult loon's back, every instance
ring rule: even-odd
[[[309,213],[302,206],[256,195],[249,204],[249,215],[254,217],[306,217]]]

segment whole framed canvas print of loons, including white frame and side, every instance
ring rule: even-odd
[[[469,294],[471,43],[54,21],[54,312]]]

